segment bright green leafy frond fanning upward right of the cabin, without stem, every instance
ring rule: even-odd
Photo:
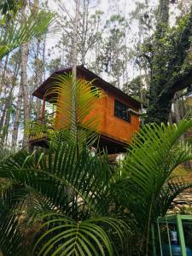
[[[191,120],[178,125],[146,125],[134,138],[124,170],[146,196],[160,189],[179,164],[192,158],[191,147],[178,141],[191,126]]]

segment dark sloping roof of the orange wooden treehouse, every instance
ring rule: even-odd
[[[43,99],[46,91],[53,85],[52,83],[55,81],[55,75],[57,74],[63,74],[63,73],[71,73],[72,72],[72,67],[68,68],[62,68],[60,70],[55,71],[52,73],[48,79],[44,81],[43,84],[41,84],[38,89],[36,89],[33,93],[32,96],[36,96],[40,99]],[[133,106],[136,108],[141,107],[141,103],[138,102],[137,100],[133,99],[131,96],[128,96],[123,92],[122,90],[119,90],[117,87],[113,86],[112,84],[109,84],[107,81],[103,80],[99,76],[97,76],[95,73],[91,72],[89,69],[86,67],[80,65],[77,66],[77,76],[83,75],[84,79],[87,79],[89,81],[95,80],[94,84],[101,88],[102,90],[110,91],[114,96],[119,96],[122,100],[126,102],[130,102]]]

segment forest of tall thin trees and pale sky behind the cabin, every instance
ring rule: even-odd
[[[21,20],[37,9],[52,10],[48,1],[13,2]],[[56,69],[72,66],[74,3],[55,2],[55,26],[0,63],[3,146],[25,145],[29,120],[41,116],[42,102],[32,97],[32,91]],[[147,115],[143,111],[146,122],[182,119],[187,112],[183,95],[191,83],[190,79],[185,83],[191,72],[190,1],[106,0],[107,10],[99,6],[99,1],[80,1],[78,64],[141,101],[148,107]],[[14,15],[14,9],[4,9],[3,4],[0,8],[2,17],[3,12]],[[163,114],[158,112],[162,95],[167,99]]]

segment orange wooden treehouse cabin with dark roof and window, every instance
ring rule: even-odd
[[[51,96],[46,96],[46,93],[55,83],[56,76],[71,72],[72,68],[64,68],[55,71],[55,73],[49,76],[49,78],[32,93],[32,96],[43,100],[41,121],[45,122],[45,119],[48,119],[48,117],[44,115],[46,111],[45,102],[51,102]],[[104,96],[99,99],[99,104],[96,104],[92,112],[90,112],[90,115],[96,113],[100,117],[97,128],[100,134],[98,142],[99,147],[108,148],[108,154],[124,152],[127,144],[131,142],[133,134],[139,129],[140,102],[137,102],[131,96],[126,95],[122,90],[109,84],[83,66],[77,67],[77,78],[92,81],[92,86],[102,90],[104,94]],[[51,114],[49,114],[49,116],[50,115]],[[54,119],[55,124],[52,128],[58,130],[61,128],[58,125],[58,120],[61,119],[61,113],[58,113],[56,109]],[[46,143],[46,135],[30,137],[30,143],[32,145],[44,146]]]

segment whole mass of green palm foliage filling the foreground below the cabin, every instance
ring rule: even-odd
[[[10,204],[13,226],[20,227],[20,207],[29,225],[39,225],[34,255],[149,255],[150,222],[165,216],[174,198],[191,187],[174,171],[192,159],[192,148],[179,141],[191,127],[191,120],[143,126],[113,169],[105,154],[74,143],[8,156],[0,177],[17,186]],[[125,243],[130,254],[122,249]]]

